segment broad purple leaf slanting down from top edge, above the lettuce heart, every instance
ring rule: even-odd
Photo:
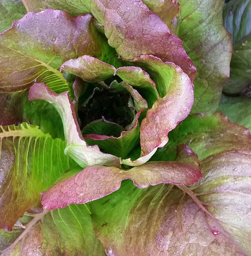
[[[196,68],[182,41],[141,1],[93,1],[91,12],[104,26],[109,45],[124,59],[152,54],[180,66],[193,81]]]

